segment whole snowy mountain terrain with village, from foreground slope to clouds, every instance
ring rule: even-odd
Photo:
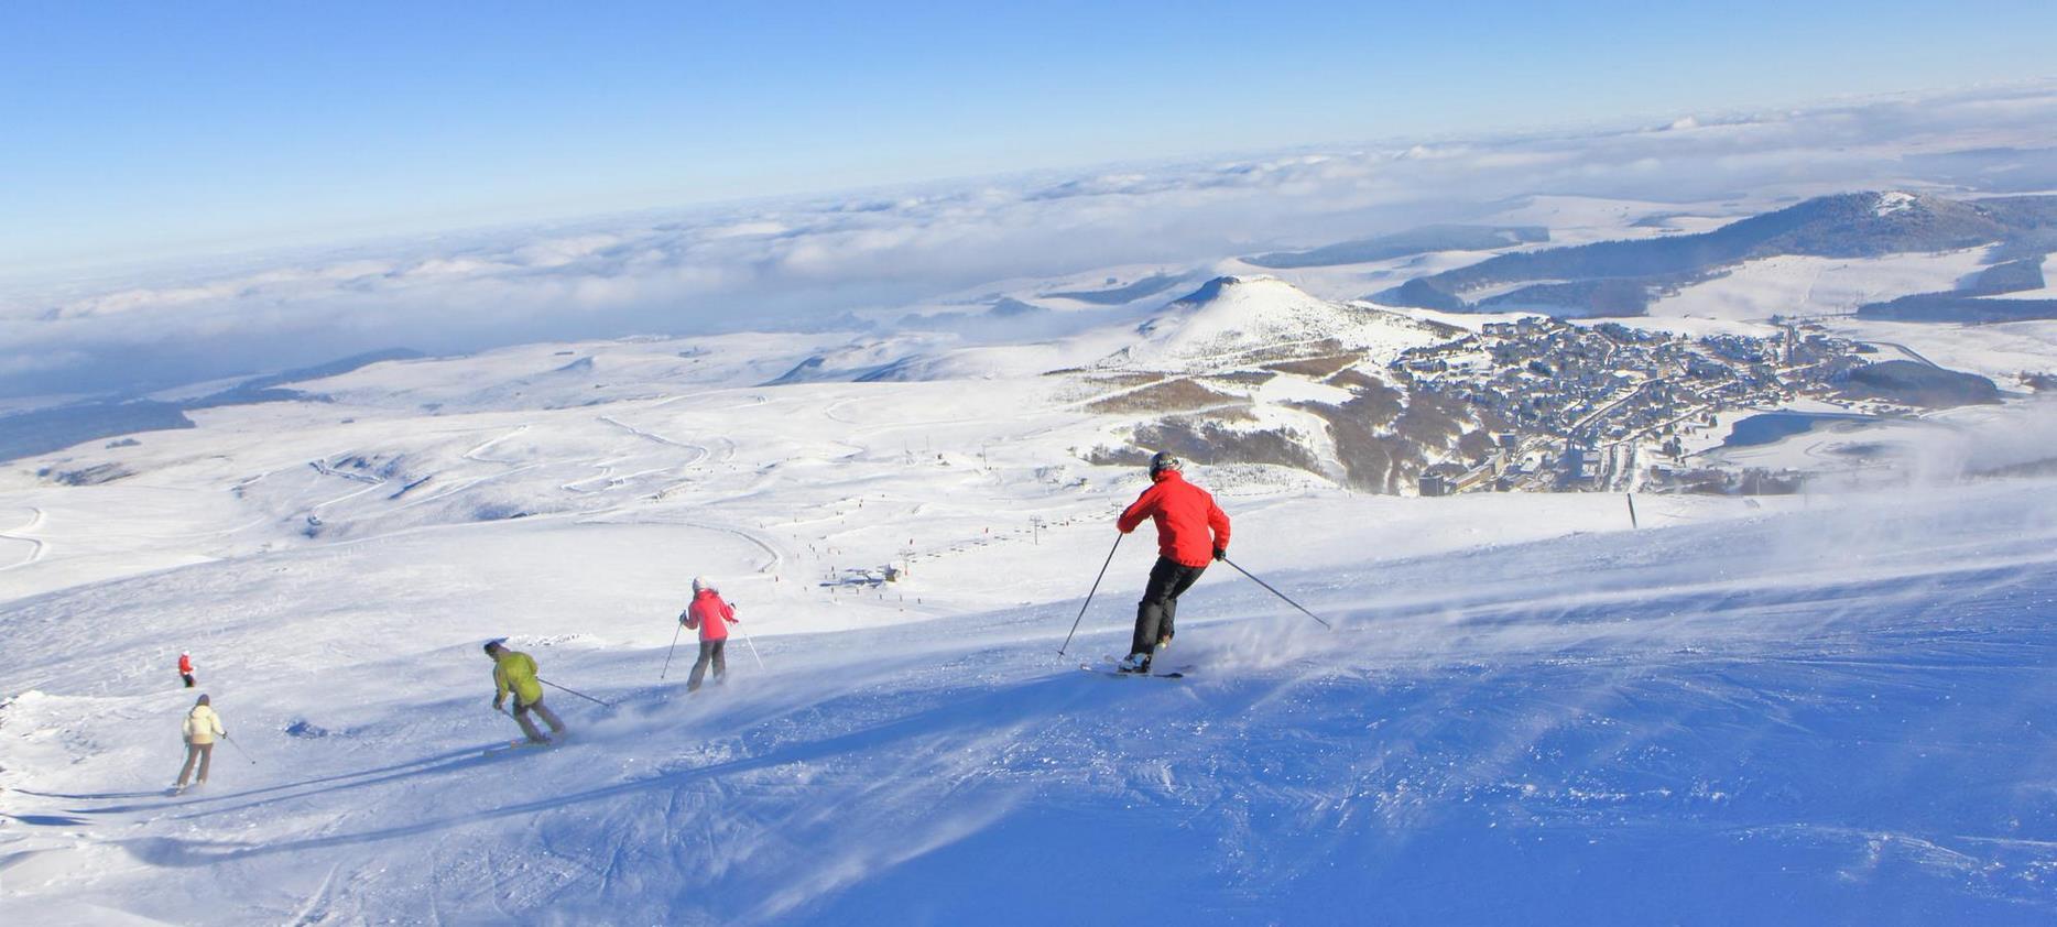
[[[1713,206],[1537,197],[1491,253]],[[1633,325],[1393,310],[1351,294],[1487,253],[1347,245],[165,393],[193,428],[12,460],[0,913],[2057,917],[2057,323],[1759,321],[1956,271],[1905,255],[1753,257]],[[1109,530],[1146,450],[1337,629],[1218,565],[1187,678],[1078,672],[1154,557]],[[693,576],[749,637],[687,697]],[[488,637],[566,687],[566,744],[485,752]],[[165,795],[181,650],[234,742]]]

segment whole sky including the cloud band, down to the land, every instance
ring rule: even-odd
[[[1952,189],[1911,158],[2057,146],[2057,14],[2012,2],[6,16],[0,119],[37,144],[0,152],[0,397],[808,327],[1537,193]]]

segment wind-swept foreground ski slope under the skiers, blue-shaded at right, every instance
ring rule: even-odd
[[[1140,549],[1074,658],[1055,652],[1078,600],[1033,600],[761,637],[763,670],[736,647],[697,697],[681,664],[654,684],[660,641],[578,608],[634,582],[609,565],[654,528],[496,526],[465,569],[416,532],[82,586],[0,613],[8,689],[31,689],[0,711],[0,911],[2049,923],[2051,489],[1319,571],[1251,545],[1339,627],[1216,567],[1166,656],[1187,680],[1074,668],[1125,639]],[[1070,539],[1066,580],[1096,539]],[[545,569],[555,600],[500,592]],[[473,639],[494,621],[619,707],[551,691],[566,746],[483,756],[512,734]],[[208,789],[165,798],[175,637],[216,654],[202,678],[257,763],[224,748]]]

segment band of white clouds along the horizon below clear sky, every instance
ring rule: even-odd
[[[2057,84],[1693,113],[1656,132],[1125,164],[16,292],[0,296],[0,343],[16,358],[0,364],[0,395],[204,378],[395,345],[463,351],[541,337],[804,327],[991,280],[1199,263],[1463,220],[1524,193],[1771,201],[1905,185],[1923,171],[1944,179],[1946,154],[1973,148],[2020,148],[2018,160],[2057,177]],[[1981,171],[1993,177],[1989,164]]]

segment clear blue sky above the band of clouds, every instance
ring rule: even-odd
[[[2057,4],[0,8],[0,275],[2043,78]]]

